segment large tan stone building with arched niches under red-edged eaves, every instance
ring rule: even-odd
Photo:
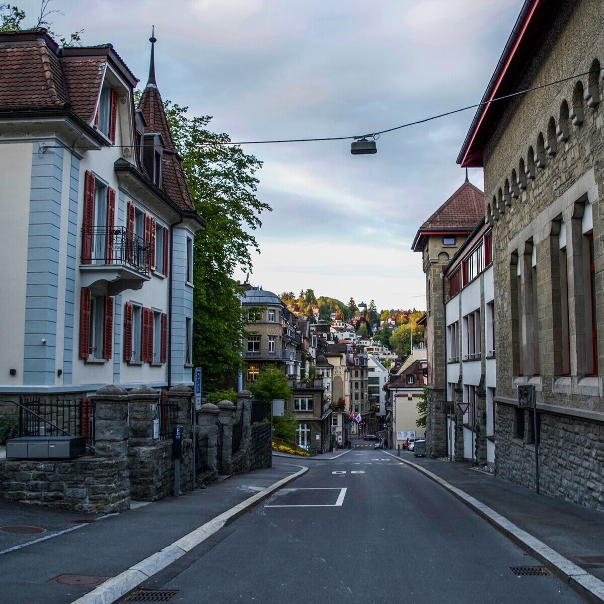
[[[457,160],[484,169],[493,233],[496,472],[534,487],[536,441],[541,492],[599,509],[603,20],[599,0],[527,0],[483,100],[533,90],[482,105]]]

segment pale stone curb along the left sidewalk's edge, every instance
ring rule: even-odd
[[[94,590],[89,591],[87,594],[74,600],[71,604],[112,604],[115,600],[125,596],[129,591],[132,591],[140,583],[149,579],[153,574],[158,573],[165,567],[169,566],[180,557],[191,551],[194,547],[197,547],[200,543],[205,541],[208,537],[218,532],[220,528],[225,525],[234,522],[239,516],[246,512],[246,510],[254,507],[260,501],[268,498],[276,490],[284,487],[286,484],[291,483],[296,478],[308,472],[306,466],[301,466],[301,469],[294,474],[290,474],[285,478],[277,481],[274,484],[261,490],[259,493],[252,495],[245,501],[231,507],[222,514],[219,514],[210,521],[202,524],[201,527],[195,528],[190,533],[181,537],[177,541],[170,545],[167,545],[160,551],[156,551],[155,554],[151,554],[144,560],[138,562],[138,564],[127,568],[115,577],[106,580],[101,583]]]

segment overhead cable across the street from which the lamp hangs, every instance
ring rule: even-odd
[[[422,120],[410,121],[406,124],[401,124],[400,126],[394,126],[392,128],[387,128],[385,130],[379,130],[378,132],[371,132],[364,135],[349,135],[345,137],[320,137],[320,138],[283,138],[283,139],[274,139],[274,140],[259,140],[259,141],[225,141],[225,142],[216,142],[216,141],[200,141],[199,143],[194,143],[194,147],[204,147],[207,145],[261,145],[261,144],[278,144],[278,143],[318,143],[322,141],[346,141],[346,140],[358,140],[359,138],[367,138],[367,137],[379,137],[381,134],[385,134],[387,132],[394,132],[394,130],[400,130],[402,128],[407,128],[409,126],[417,126],[417,124],[425,124],[428,121],[438,120],[442,117],[447,117],[448,115],[454,115],[457,113],[461,113],[462,111],[467,111],[468,109],[476,109],[478,107],[482,107],[484,105],[489,105],[491,103],[496,103],[497,101],[503,101],[508,98],[517,97],[521,94],[527,94],[528,92],[533,92],[535,90],[540,90],[542,88],[547,88],[548,86],[554,86],[556,84],[561,84],[564,82],[568,82],[569,80],[574,80],[577,77],[588,76],[589,74],[599,72],[599,70],[591,70],[585,71],[580,74],[574,74],[574,76],[569,76],[562,78],[560,80],[555,80],[554,82],[547,82],[545,84],[541,84],[539,86],[533,86],[533,88],[525,88],[524,90],[519,90],[517,92],[512,92],[511,94],[503,95],[502,97],[492,98],[488,101],[481,101],[480,103],[474,103],[472,105],[467,105],[466,107],[461,107],[459,109],[453,109],[452,111],[446,111],[445,113],[438,115],[431,115],[430,117],[423,118]],[[130,149],[132,145],[114,145],[118,149]],[[145,146],[147,147],[147,145]],[[166,145],[149,145],[148,147],[166,147]],[[56,145],[56,146],[47,146],[46,149],[63,149],[65,146]],[[73,149],[74,147],[67,147],[68,149]],[[78,146],[78,149],[96,149],[94,146]]]

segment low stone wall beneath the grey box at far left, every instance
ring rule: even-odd
[[[0,460],[2,496],[62,510],[112,513],[130,507],[126,458]]]

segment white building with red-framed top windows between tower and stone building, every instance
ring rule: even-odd
[[[495,464],[495,291],[492,230],[483,219],[445,269],[447,452]]]

